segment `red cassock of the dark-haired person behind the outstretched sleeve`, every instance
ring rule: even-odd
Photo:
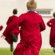
[[[10,16],[9,19],[8,19],[8,21],[7,21],[7,23],[6,23],[7,26],[8,26],[9,24],[11,24],[11,22],[15,21],[16,19],[18,19],[17,16]],[[16,26],[16,27],[14,27],[12,30],[10,30],[10,32],[7,33],[7,35],[5,35],[6,41],[7,41],[9,44],[11,44],[12,34],[15,34],[16,37],[17,37],[17,36],[18,36],[18,33],[19,33],[19,28],[18,28],[18,26]]]

